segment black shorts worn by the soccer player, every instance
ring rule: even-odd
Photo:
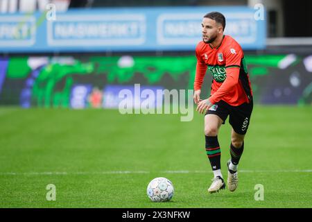
[[[229,124],[231,124],[235,133],[245,135],[248,130],[252,108],[252,101],[250,103],[232,106],[221,100],[212,105],[206,114],[216,114],[223,120],[223,124],[229,115]]]

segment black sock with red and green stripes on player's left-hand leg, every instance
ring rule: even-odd
[[[218,142],[218,136],[209,137],[206,136],[206,153],[209,158],[211,168],[213,171],[221,169],[221,150]]]

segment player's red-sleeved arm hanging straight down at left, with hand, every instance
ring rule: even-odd
[[[200,89],[202,88],[202,82],[204,81],[204,77],[207,71],[207,65],[205,64],[204,60],[200,57],[200,50],[198,46],[196,47],[196,75],[194,80],[194,102],[198,104],[200,101]]]

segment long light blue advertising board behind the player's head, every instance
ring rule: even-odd
[[[265,19],[255,19],[247,6],[105,8],[33,15],[0,14],[3,52],[179,51],[194,50],[201,38],[202,17],[222,12],[225,35],[243,49],[263,49]]]

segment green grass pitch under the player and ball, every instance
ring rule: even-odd
[[[239,187],[208,194],[213,174],[203,116],[122,115],[117,110],[0,109],[0,207],[311,207],[312,107],[255,106]],[[230,128],[219,133],[227,178]],[[168,203],[146,196],[173,182]],[[46,200],[46,185],[56,200]],[[255,185],[264,200],[254,200]]]

